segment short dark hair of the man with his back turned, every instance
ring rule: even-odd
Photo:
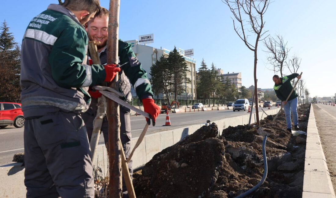
[[[64,0],[62,6],[72,11],[86,10],[93,13],[99,9],[100,2],[99,0]]]

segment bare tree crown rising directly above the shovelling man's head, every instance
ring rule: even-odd
[[[284,38],[280,35],[276,35],[276,38],[268,37],[264,41],[264,45],[267,48],[269,57],[267,61],[273,66],[274,72],[279,72],[281,77],[283,77],[282,71],[284,64],[286,65],[286,59],[290,49],[287,47],[287,42],[284,41]]]

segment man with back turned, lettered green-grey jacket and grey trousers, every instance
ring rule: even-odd
[[[87,64],[84,24],[99,0],[50,4],[28,24],[22,40],[21,102],[25,116],[27,198],[94,198],[90,145],[81,114],[88,87],[110,82],[115,64]]]

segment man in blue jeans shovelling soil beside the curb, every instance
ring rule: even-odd
[[[298,94],[295,92],[295,90],[293,90],[292,94],[289,96],[290,92],[293,89],[291,80],[295,77],[300,79],[301,75],[299,75],[298,73],[293,73],[282,78],[280,78],[278,75],[273,76],[273,81],[275,83],[274,90],[277,94],[277,97],[282,101],[286,116],[287,130],[290,132],[292,132],[291,113],[293,115],[294,129],[300,130],[300,128],[298,127],[299,120],[297,115]],[[289,98],[286,102],[288,96]]]

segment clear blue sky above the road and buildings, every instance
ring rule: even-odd
[[[13,0],[1,2],[0,22],[6,20],[16,42],[21,43],[30,20],[57,0]],[[109,8],[109,0],[100,0]],[[264,16],[265,35],[281,35],[290,57],[301,58],[298,73],[310,96],[333,96],[336,64],[336,1],[275,0]],[[194,49],[197,69],[204,58],[227,72],[242,72],[242,85],[254,85],[253,52],[238,37],[221,0],[121,0],[119,38],[138,40],[139,35],[154,34],[150,46],[173,50]],[[255,42],[255,41],[251,41]],[[274,72],[267,68],[267,54],[259,42],[258,88],[272,88]],[[148,71],[149,72],[149,71]],[[289,74],[289,73],[287,73]]]

